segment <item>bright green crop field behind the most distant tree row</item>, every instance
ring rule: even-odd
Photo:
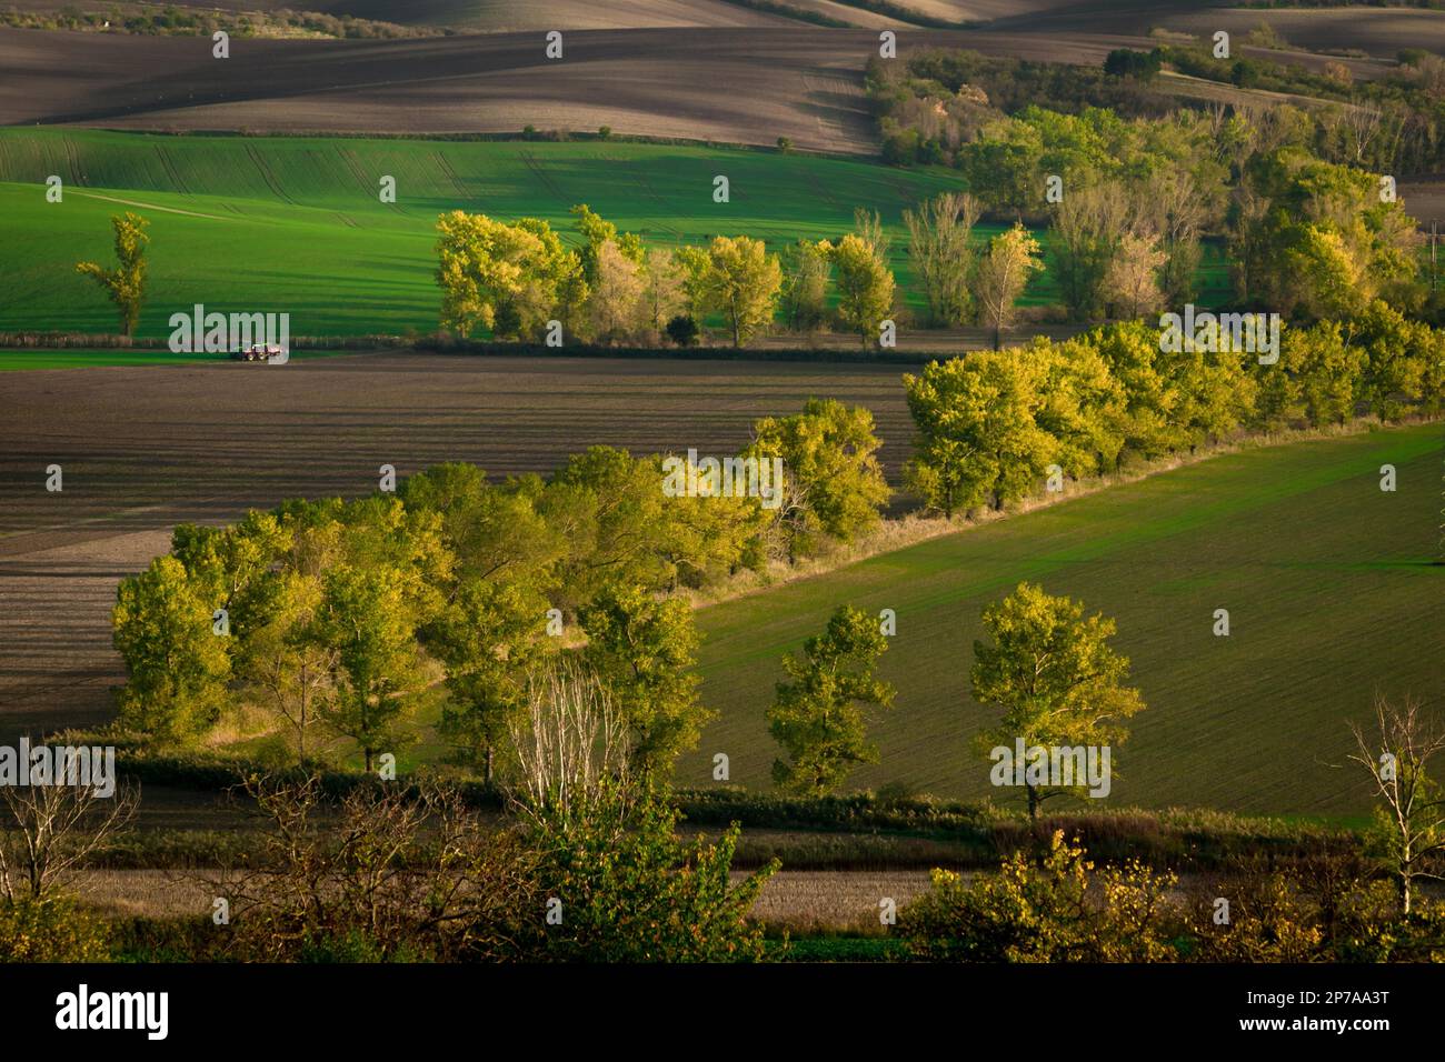
[[[46,202],[51,175],[65,182],[62,202]],[[727,204],[712,202],[718,175]],[[379,198],[383,176],[396,179],[394,205]],[[434,331],[438,214],[542,217],[575,240],[568,208],[578,202],[659,244],[744,233],[773,250],[835,237],[854,207],[868,207],[889,225],[916,308],[902,211],[959,186],[948,170],[722,147],[3,129],[0,331],[114,331],[110,303],[74,264],[111,259],[108,218],[124,210],[150,220],[140,334],[152,337],[197,302],[286,311],[292,335]],[[997,228],[980,225],[980,238]],[[1208,251],[1201,302],[1224,277]],[[1025,299],[1052,301],[1048,277]]]

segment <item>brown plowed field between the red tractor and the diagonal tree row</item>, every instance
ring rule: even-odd
[[[893,478],[912,438],[887,366],[371,354],[286,366],[0,376],[0,740],[108,718],[116,584],[179,520],[357,497],[474,461],[556,468],[590,445],[736,452],[811,396],[868,406]],[[64,491],[46,493],[59,464]]]

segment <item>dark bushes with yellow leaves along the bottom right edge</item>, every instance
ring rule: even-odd
[[[1176,890],[1140,863],[1095,871],[1056,831],[997,874],[933,871],[899,913],[918,959],[965,962],[1383,962],[1445,959],[1445,905],[1402,916],[1389,887],[1350,854],[1316,855],[1287,873],[1237,860]]]

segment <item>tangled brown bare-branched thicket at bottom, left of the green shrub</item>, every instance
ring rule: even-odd
[[[256,865],[201,880],[231,902],[228,948],[298,958],[329,942],[374,957],[514,958],[540,909],[535,857],[488,829],[457,789],[364,785],[340,803],[319,776],[251,777],[264,821]]]

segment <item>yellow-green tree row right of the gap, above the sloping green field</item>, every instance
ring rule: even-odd
[[[1286,327],[1274,364],[1238,350],[1218,322],[1194,338],[1169,351],[1157,329],[1118,324],[905,376],[918,428],[910,490],[949,516],[1003,509],[1051,470],[1058,490],[1065,475],[1194,452],[1241,428],[1342,425],[1361,410],[1392,420],[1445,400],[1445,332],[1383,302],[1350,321]]]

